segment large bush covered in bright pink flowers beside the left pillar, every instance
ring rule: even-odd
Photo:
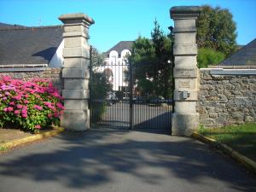
[[[38,131],[57,125],[64,109],[62,100],[49,80],[0,77],[0,126],[19,125],[26,131]]]

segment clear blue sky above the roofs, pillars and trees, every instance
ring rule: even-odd
[[[237,27],[237,43],[256,38],[256,0],[0,0],[0,22],[24,26],[60,25],[58,16],[83,12],[96,24],[90,27],[90,44],[106,51],[138,35],[149,38],[154,19],[165,32],[173,26],[169,9],[178,5],[219,5],[230,9]]]

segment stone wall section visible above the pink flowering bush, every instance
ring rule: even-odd
[[[44,68],[37,70],[37,68],[22,68],[20,69],[11,69],[8,70],[0,69],[0,76],[10,76],[14,79],[24,79],[30,80],[34,78],[49,79],[53,82],[58,90],[63,90],[63,79],[61,78],[62,68]]]

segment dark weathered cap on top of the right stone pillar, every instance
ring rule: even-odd
[[[170,9],[170,15],[173,19],[173,15],[199,15],[201,13],[200,6],[175,6]]]

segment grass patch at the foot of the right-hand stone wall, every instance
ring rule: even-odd
[[[206,137],[225,143],[239,153],[256,161],[256,124],[230,125],[221,128],[203,128],[198,132]]]

